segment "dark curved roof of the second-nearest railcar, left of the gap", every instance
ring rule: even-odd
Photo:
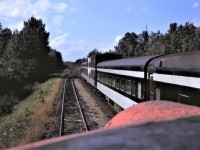
[[[104,62],[98,63],[97,67],[106,67],[106,68],[144,67],[147,61],[155,56],[156,55],[104,61]]]

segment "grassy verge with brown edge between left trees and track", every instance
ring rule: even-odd
[[[34,92],[15,105],[12,114],[0,118],[0,149],[41,139],[60,84],[60,78],[36,83]]]

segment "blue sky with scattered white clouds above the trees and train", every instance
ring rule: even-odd
[[[200,0],[0,0],[3,28],[20,31],[31,16],[42,19],[63,60],[76,61],[114,50],[127,32],[166,33],[174,22],[199,27]]]

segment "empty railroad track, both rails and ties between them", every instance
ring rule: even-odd
[[[74,78],[72,76],[64,81],[59,136],[88,131],[74,85]]]

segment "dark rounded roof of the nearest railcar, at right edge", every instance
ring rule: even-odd
[[[200,72],[200,51],[164,55],[149,64],[150,69],[187,70]]]

